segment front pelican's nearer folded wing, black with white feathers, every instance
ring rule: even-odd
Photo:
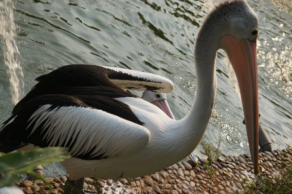
[[[91,160],[137,152],[147,145],[149,138],[143,123],[119,100],[44,95],[27,103],[4,126],[0,132],[0,151],[1,144],[19,143],[14,148],[18,149],[31,143],[39,147],[69,147],[73,157]]]

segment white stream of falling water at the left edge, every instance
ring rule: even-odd
[[[20,54],[16,42],[12,0],[0,1],[0,35],[3,38],[3,55],[10,79],[11,100],[13,104],[24,96],[23,72],[20,67]]]

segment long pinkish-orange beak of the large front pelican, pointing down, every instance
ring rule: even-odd
[[[231,35],[223,36],[219,47],[225,50],[235,71],[239,85],[249,149],[258,171],[258,94],[256,41],[237,39]]]

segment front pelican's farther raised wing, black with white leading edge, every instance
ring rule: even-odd
[[[151,90],[169,93],[173,83],[162,76],[116,67],[97,65],[65,65],[36,78],[38,83],[14,107],[15,114],[23,104],[35,97],[46,94],[63,94],[67,87],[103,86],[116,89]],[[58,91],[57,91],[58,90]],[[58,93],[57,93],[58,92]]]

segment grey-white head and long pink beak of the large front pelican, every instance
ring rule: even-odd
[[[255,174],[258,174],[258,29],[256,13],[245,0],[225,0],[207,17],[199,33],[199,36],[204,32],[214,33],[211,41],[218,42],[217,50],[226,52],[235,71]],[[198,47],[196,52],[200,54]]]

